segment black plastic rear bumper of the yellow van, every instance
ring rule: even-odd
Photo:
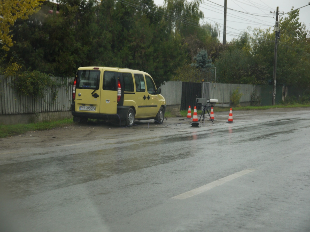
[[[117,106],[116,114],[97,114],[97,113],[88,113],[88,112],[77,112],[74,110],[74,104],[71,105],[71,113],[75,117],[81,118],[91,118],[91,119],[120,119],[121,121],[126,119],[127,112],[130,106],[121,105]]]

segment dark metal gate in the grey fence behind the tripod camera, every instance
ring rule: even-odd
[[[181,110],[194,109],[196,98],[201,98],[201,83],[182,82]]]

